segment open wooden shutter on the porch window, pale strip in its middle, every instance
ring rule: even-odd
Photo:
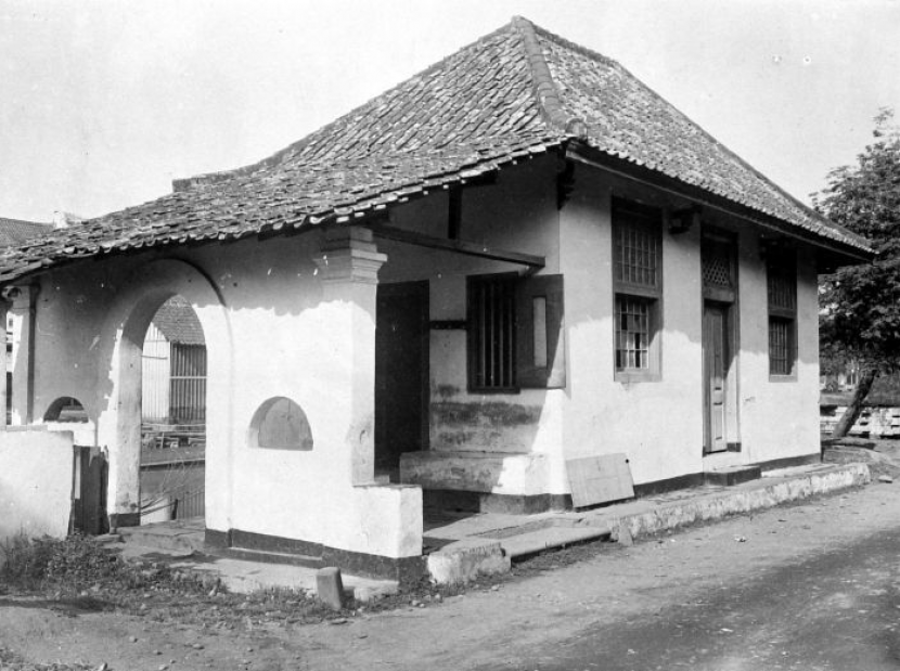
[[[563,275],[523,278],[516,288],[518,386],[562,389],[566,386]]]

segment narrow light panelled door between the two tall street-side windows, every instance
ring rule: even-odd
[[[728,377],[728,307],[706,304],[703,313],[704,452],[728,449],[725,400]]]

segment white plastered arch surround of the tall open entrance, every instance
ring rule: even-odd
[[[191,448],[193,453],[200,451],[201,441],[196,430],[197,422],[181,422],[181,420],[203,417],[203,469],[194,473],[169,474],[165,478],[156,478],[155,482],[145,482],[147,489],[169,490],[184,499],[184,507],[193,506],[193,511],[203,511],[207,520],[218,515],[222,524],[230,517],[231,502],[231,438],[228,427],[228,417],[231,414],[231,331],[227,311],[214,285],[196,268],[175,260],[154,261],[141,268],[127,283],[126,288],[117,295],[104,327],[104,333],[111,336],[110,350],[110,382],[112,391],[106,399],[105,409],[101,410],[98,418],[99,444],[106,446],[110,453],[110,480],[107,505],[111,527],[137,526],[141,521],[142,503],[150,503],[142,496],[142,453],[155,449],[150,444],[154,437],[145,431],[143,413],[143,359],[144,343],[149,332],[152,332],[154,318],[160,308],[171,305],[169,301],[179,297],[180,302],[190,309],[196,319],[200,333],[203,337],[203,354],[194,351],[188,354],[194,363],[205,359],[205,373],[201,386],[200,375],[176,375],[182,379],[176,387],[176,400],[183,401],[187,397],[205,397],[202,409],[196,402],[181,402],[169,409],[164,417],[168,426],[180,427],[193,424],[187,429],[187,435],[162,437],[160,450],[171,450],[178,441],[179,450]],[[153,335],[151,333],[151,335]],[[183,352],[182,352],[183,353]],[[179,357],[181,354],[177,354]],[[184,361],[178,364],[179,371],[184,371]],[[194,369],[196,370],[196,369]],[[191,378],[191,379],[188,379]],[[172,398],[171,376],[169,380],[169,401]],[[152,408],[149,408],[151,413]],[[172,412],[172,410],[175,412]],[[191,413],[194,413],[191,415]],[[175,420],[175,421],[172,421]],[[178,429],[180,430],[180,429]],[[183,431],[182,431],[183,433]],[[193,433],[193,436],[190,434]],[[194,440],[191,441],[191,438]],[[146,450],[144,450],[146,441]],[[162,448],[162,446],[167,446]],[[188,452],[191,452],[188,450]],[[163,452],[165,455],[166,453]],[[185,461],[185,452],[168,453],[176,459],[164,461]],[[190,460],[188,460],[190,461]],[[209,482],[216,486],[210,487]],[[177,490],[177,491],[172,491]],[[203,494],[197,493],[203,491]],[[149,491],[147,493],[152,493]],[[188,501],[187,495],[193,495]],[[202,503],[196,499],[202,498]],[[211,502],[211,505],[210,505]],[[190,511],[188,511],[190,512]],[[176,513],[177,514],[177,513]]]

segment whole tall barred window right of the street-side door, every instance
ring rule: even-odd
[[[793,249],[771,249],[766,261],[769,301],[769,374],[788,376],[797,361],[797,259]]]

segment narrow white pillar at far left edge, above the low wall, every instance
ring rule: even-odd
[[[12,313],[17,317],[13,330],[13,403],[12,424],[34,422],[35,408],[35,321],[40,286],[16,287],[12,292]],[[5,331],[7,324],[3,323]]]

